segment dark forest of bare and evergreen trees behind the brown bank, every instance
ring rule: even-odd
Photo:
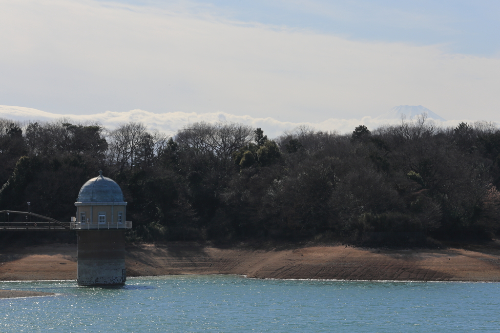
[[[237,123],[170,137],[129,122],[0,118],[0,210],[69,222],[90,178],[116,181],[130,241],[348,240],[500,233],[500,130],[424,115],[351,133],[301,126],[270,139]],[[363,238],[364,237],[364,238]],[[402,236],[401,236],[402,237]],[[407,237],[407,236],[405,236]]]

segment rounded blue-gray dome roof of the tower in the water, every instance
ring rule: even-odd
[[[78,193],[78,202],[123,202],[123,193],[110,178],[99,177],[88,180]]]

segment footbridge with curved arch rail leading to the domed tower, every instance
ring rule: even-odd
[[[6,210],[0,211],[0,216],[1,214],[3,219],[0,218],[0,231],[69,230],[69,223],[62,223],[35,213]],[[15,218],[18,215],[25,216],[25,218],[19,221],[19,218]]]

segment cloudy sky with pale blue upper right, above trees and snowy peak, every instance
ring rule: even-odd
[[[0,117],[498,122],[499,36],[498,1],[2,0]]]

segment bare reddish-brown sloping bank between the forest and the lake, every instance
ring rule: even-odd
[[[260,279],[499,282],[500,243],[437,250],[340,245],[260,250],[172,242],[128,246],[125,263],[129,277],[237,274]],[[0,281],[72,279],[75,244],[0,250]]]

